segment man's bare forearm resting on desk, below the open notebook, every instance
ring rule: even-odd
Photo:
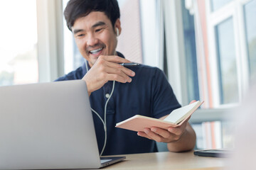
[[[196,133],[188,123],[186,131],[183,133],[178,141],[170,142],[167,144],[169,151],[171,152],[183,152],[193,149],[196,145]]]

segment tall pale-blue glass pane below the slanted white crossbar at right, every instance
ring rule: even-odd
[[[238,72],[235,60],[233,18],[215,27],[220,104],[238,102]]]

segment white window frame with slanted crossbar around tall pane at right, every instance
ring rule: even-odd
[[[206,20],[208,31],[209,59],[213,67],[210,67],[211,87],[213,88],[213,107],[227,108],[238,106],[238,103],[220,105],[220,89],[218,86],[218,55],[215,38],[215,27],[228,18],[233,18],[235,39],[235,57],[238,69],[238,96],[239,101],[249,86],[249,69],[247,61],[247,49],[245,43],[245,21],[243,6],[250,0],[233,0],[216,11],[210,10],[210,0],[206,0]]]

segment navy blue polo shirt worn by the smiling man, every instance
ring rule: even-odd
[[[117,53],[124,57],[121,53]],[[89,67],[89,64],[86,63]],[[115,128],[116,123],[134,115],[146,115],[161,118],[181,107],[164,73],[156,68],[140,64],[130,67],[135,72],[131,83],[115,82],[114,92],[107,103],[107,144],[102,155],[136,154],[157,152],[156,142],[139,137],[137,132]],[[86,74],[85,63],[73,72],[56,81],[82,79]],[[91,107],[104,120],[104,108],[107,95],[111,94],[113,81],[108,81],[102,88],[90,95]],[[105,140],[105,131],[100,118],[92,113],[97,135],[97,144],[101,152]]]

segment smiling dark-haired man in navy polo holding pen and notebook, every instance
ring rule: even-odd
[[[133,115],[163,119],[181,107],[160,69],[142,64],[127,68],[119,64],[130,61],[116,52],[117,36],[122,32],[117,0],[70,0],[64,15],[87,62],[57,81],[86,82],[91,108],[107,124],[105,144],[104,125],[93,113],[99,149],[105,148],[103,155],[157,152],[155,141],[167,142],[172,152],[193,149],[196,135],[188,122],[179,128],[152,127],[138,133],[114,128]]]

